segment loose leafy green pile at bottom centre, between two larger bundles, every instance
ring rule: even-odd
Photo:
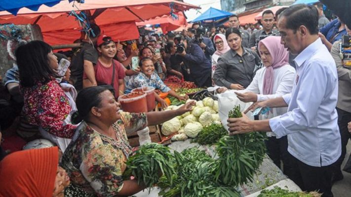
[[[214,182],[216,160],[196,147],[174,152],[173,183],[161,177],[158,187],[162,197],[240,197],[233,187]]]

